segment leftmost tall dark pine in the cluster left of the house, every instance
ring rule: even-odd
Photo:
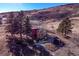
[[[11,12],[8,18],[8,26],[7,26],[7,31],[11,33],[11,36],[13,37],[14,34],[18,33],[19,31],[19,24],[18,24],[18,19],[17,17],[15,18],[13,13]]]

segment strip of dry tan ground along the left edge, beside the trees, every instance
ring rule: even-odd
[[[8,56],[8,52],[5,25],[0,26],[0,56]]]

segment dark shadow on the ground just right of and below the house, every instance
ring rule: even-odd
[[[65,46],[65,43],[63,41],[61,41],[60,38],[58,38],[57,36],[51,36],[51,35],[46,35],[44,38],[37,40],[37,42],[41,42],[41,43],[52,43],[53,45],[55,45],[57,48],[61,48]]]

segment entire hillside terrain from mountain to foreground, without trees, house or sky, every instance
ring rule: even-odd
[[[36,51],[33,49],[34,46],[32,45],[26,45],[24,42],[22,43],[16,43],[19,40],[10,41],[9,39],[6,39],[10,33],[6,33],[6,25],[4,24],[0,25],[0,55],[40,55],[39,53],[42,53],[41,55],[55,55],[55,56],[77,56],[79,55],[79,4],[65,4],[60,5],[56,7],[50,7],[50,8],[44,8],[39,10],[28,10],[23,11],[24,16],[29,16],[29,19],[31,19],[31,24],[33,26],[38,26],[39,29],[44,29],[47,33],[47,41],[43,41],[45,38],[40,40],[39,42],[35,43],[37,47]],[[13,12],[14,17],[17,16],[19,11]],[[10,15],[10,12],[6,13],[0,13],[0,19],[3,20],[3,18],[8,18]],[[69,35],[71,38],[66,39],[61,34],[56,32],[56,29],[58,28],[59,23],[65,18],[69,17],[69,19],[72,21],[72,34]],[[41,21],[42,20],[42,21]],[[6,20],[8,21],[8,19]],[[16,37],[19,37],[18,34],[15,35]],[[23,35],[24,36],[24,35]],[[41,35],[42,36],[42,35]],[[54,40],[61,41],[61,43],[58,43],[58,46],[56,46],[56,43],[50,43]],[[8,42],[10,41],[10,42]],[[23,45],[24,44],[24,45]],[[61,46],[63,44],[63,46]],[[7,47],[9,46],[9,47]],[[43,46],[43,47],[42,47]],[[19,52],[18,52],[19,51]],[[26,53],[27,52],[27,53]],[[35,53],[37,52],[37,54]],[[49,53],[50,54],[49,54]],[[33,53],[33,54],[31,54]],[[35,53],[35,54],[34,54]]]

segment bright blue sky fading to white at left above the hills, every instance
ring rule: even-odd
[[[55,7],[64,3],[0,3],[0,13]]]

